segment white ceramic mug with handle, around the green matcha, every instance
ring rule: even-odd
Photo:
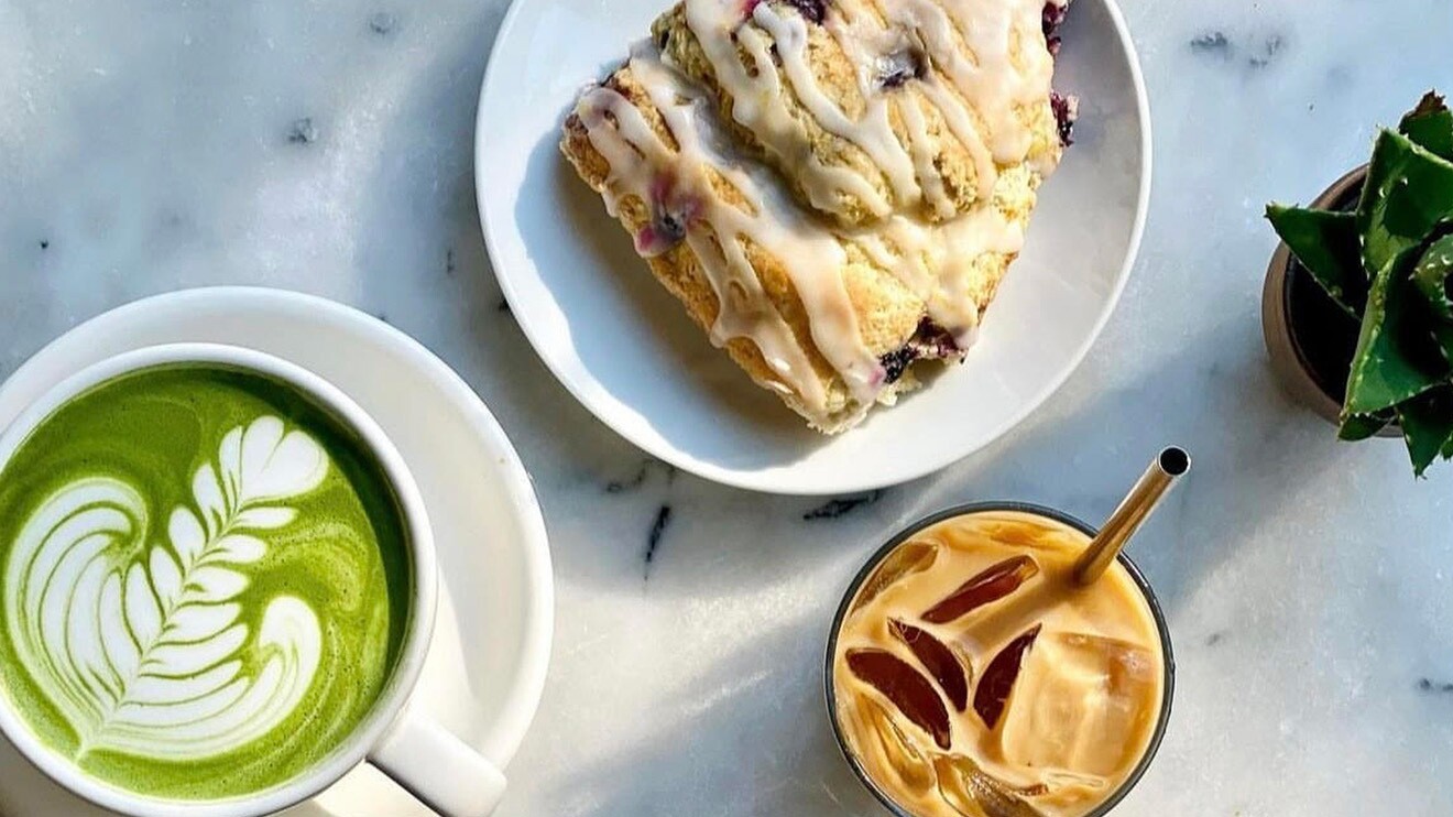
[[[173,363],[241,368],[282,381],[328,408],[359,435],[398,497],[414,563],[413,603],[398,663],[353,733],[308,772],[262,792],[216,801],[144,797],[105,784],[51,752],[0,693],[0,731],[42,772],[71,792],[135,817],[262,817],[304,802],[368,760],[445,817],[482,817],[504,794],[504,776],[439,724],[416,715],[410,696],[418,680],[437,606],[439,568],[423,497],[384,430],[343,391],[321,377],[250,349],[211,343],[151,346],[109,358],[57,384],[0,433],[0,471],[29,433],[73,397],[128,372]]]

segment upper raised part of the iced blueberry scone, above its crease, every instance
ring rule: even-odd
[[[1003,167],[1053,169],[1046,28],[1036,0],[690,0],[651,33],[804,205],[863,227],[947,221]]]

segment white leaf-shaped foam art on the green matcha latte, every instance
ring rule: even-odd
[[[263,558],[267,532],[296,516],[283,502],[327,471],[312,438],[264,416],[227,432],[215,462],[196,470],[196,507],[171,510],[167,544],[138,547],[147,503],[112,477],[64,486],[25,522],[4,566],[6,627],[78,736],[77,759],[209,757],[298,707],[323,653],[318,616],[276,596],[250,634],[237,567]]]

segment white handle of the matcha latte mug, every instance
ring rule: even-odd
[[[504,775],[472,746],[404,711],[369,763],[442,817],[485,817],[504,797]]]

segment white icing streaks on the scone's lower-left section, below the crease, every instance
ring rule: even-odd
[[[706,100],[699,89],[651,54],[634,57],[631,68],[665,119],[679,150],[671,151],[620,93],[607,87],[587,92],[577,110],[590,142],[610,164],[607,206],[615,212],[623,198],[636,196],[648,206],[681,211],[676,218],[684,222],[684,238],[719,302],[712,342],[721,346],[734,337],[751,339],[785,381],[774,387],[795,393],[809,411],[827,420],[830,408],[821,379],[763,289],[745,241],[774,257],[809,315],[814,345],[843,377],[853,397],[863,406],[870,404],[882,366],[863,345],[857,315],[838,275],[847,263],[841,244],[786,202],[770,182],[763,183],[712,154],[702,134],[709,128],[709,113],[705,113]],[[706,167],[722,173],[747,209],[722,199]],[[663,179],[670,180],[664,196]]]

